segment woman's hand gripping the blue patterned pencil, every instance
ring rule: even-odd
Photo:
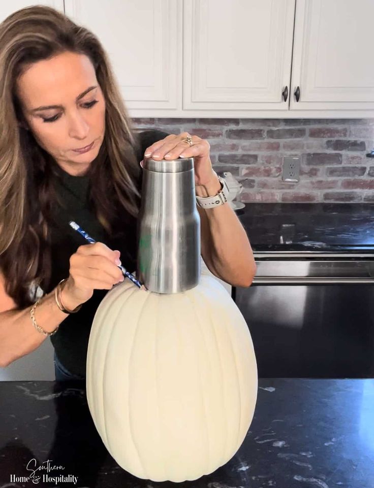
[[[89,300],[93,290],[110,290],[123,281],[119,256],[103,242],[79,246],[70,257],[69,277],[61,290],[64,305],[73,309]]]

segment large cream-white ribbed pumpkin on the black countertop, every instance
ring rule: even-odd
[[[253,419],[251,335],[211,276],[175,294],[117,285],[93,320],[86,369],[93,422],[119,466],[138,478],[181,482],[215,471]]]

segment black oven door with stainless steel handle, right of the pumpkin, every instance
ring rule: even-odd
[[[374,377],[374,261],[352,255],[255,254],[233,298],[260,377]]]

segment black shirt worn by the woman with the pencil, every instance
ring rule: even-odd
[[[144,152],[151,144],[169,135],[167,132],[149,129],[137,134],[139,138],[138,161],[143,159]],[[73,230],[69,221],[74,220],[93,239],[105,243],[111,250],[120,251],[122,265],[130,272],[136,270],[136,229],[137,219],[132,217],[131,225],[126,224],[124,236],[117,241],[111,239],[102,227],[96,215],[88,208],[88,176],[72,176],[58,167],[60,178],[56,179],[55,188],[63,198],[66,208],[61,209],[58,226],[51,227],[51,258],[52,277],[49,293],[60,280],[69,276],[70,257],[78,247],[88,242],[78,232]],[[129,219],[129,215],[127,215]],[[92,297],[83,303],[80,310],[71,313],[50,340],[57,358],[74,374],[85,377],[88,338],[95,317],[96,310],[108,290],[94,290]]]

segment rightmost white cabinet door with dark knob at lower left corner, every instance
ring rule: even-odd
[[[297,0],[291,111],[374,111],[373,18],[373,0]]]

